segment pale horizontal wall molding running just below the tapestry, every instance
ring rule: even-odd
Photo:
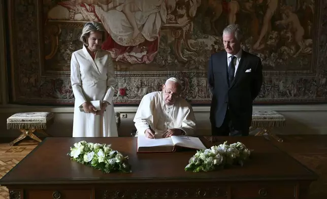
[[[116,112],[135,113],[138,107],[115,107]],[[255,111],[327,111],[327,104],[323,105],[280,105],[280,106],[253,106]],[[0,113],[17,113],[46,111],[53,113],[73,113],[73,107],[49,107],[49,106],[25,106],[25,105],[4,105],[0,106]],[[194,112],[209,112],[209,106],[193,106]]]

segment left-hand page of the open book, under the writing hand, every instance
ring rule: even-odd
[[[155,135],[155,139],[145,136],[138,137],[138,147],[174,146],[171,138],[162,138]]]

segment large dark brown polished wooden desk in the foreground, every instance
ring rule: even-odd
[[[240,141],[254,149],[244,167],[216,172],[185,172],[195,153],[136,153],[137,138],[46,138],[1,180],[11,199],[66,198],[307,198],[317,180],[297,160],[264,137],[201,138],[206,146]],[[132,173],[103,174],[70,160],[74,143],[85,140],[112,144],[130,157]]]

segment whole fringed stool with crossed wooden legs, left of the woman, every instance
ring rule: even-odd
[[[27,136],[38,142],[42,142],[34,132],[40,132],[49,136],[44,130],[54,121],[54,114],[50,112],[27,112],[16,113],[7,119],[7,129],[19,129],[21,135],[12,141],[10,146],[23,140]]]

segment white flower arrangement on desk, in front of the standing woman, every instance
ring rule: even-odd
[[[128,156],[124,157],[120,152],[112,150],[110,146],[81,141],[75,143],[74,147],[71,147],[71,152],[67,155],[79,163],[101,170],[104,173],[130,173]]]

